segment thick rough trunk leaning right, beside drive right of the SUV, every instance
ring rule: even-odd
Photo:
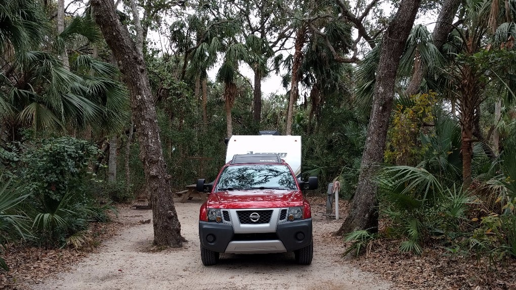
[[[402,0],[394,19],[384,32],[357,190],[348,216],[335,233],[337,235],[354,230],[378,230],[378,189],[372,177],[376,172],[376,165],[383,160],[399,58],[404,52],[419,6],[420,0]]]

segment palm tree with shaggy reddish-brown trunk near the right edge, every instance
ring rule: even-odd
[[[478,138],[478,135],[475,135],[475,124],[480,117],[480,104],[487,98],[485,88],[492,81],[501,82],[503,87],[508,88],[512,95],[514,94],[506,81],[506,78],[510,79],[510,76],[516,72],[513,70],[514,65],[506,65],[514,62],[513,54],[503,46],[497,49],[493,47],[493,43],[486,42],[490,29],[502,32],[502,38],[507,38],[507,33],[490,27],[493,23],[496,24],[492,19],[498,17],[497,13],[493,14],[493,10],[498,11],[495,9],[497,6],[497,1],[467,2],[468,12],[464,28],[456,28],[457,33],[455,33],[459,40],[456,48],[458,55],[451,60],[447,71],[451,84],[455,88],[454,93],[459,106],[459,122],[462,128],[462,179],[463,187],[466,188],[472,181],[473,143],[476,141],[474,137]],[[508,37],[509,41],[510,37],[511,35]],[[479,141],[483,141],[481,139]]]

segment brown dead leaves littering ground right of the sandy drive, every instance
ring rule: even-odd
[[[325,211],[324,197],[311,197],[310,203],[312,211]],[[342,217],[345,217],[349,202],[340,201],[339,208],[342,213],[341,221],[343,221]],[[337,224],[338,226],[340,224]],[[321,238],[327,245],[341,246],[344,243],[343,238],[333,236],[331,232],[322,233]],[[368,252],[368,257],[349,256],[341,259],[340,262],[373,272],[384,280],[392,282],[394,289],[516,289],[516,260],[514,259],[495,266],[490,265],[487,258],[477,259],[451,254],[442,248],[426,249],[422,255],[413,255],[399,252],[399,242],[401,241],[375,241]]]

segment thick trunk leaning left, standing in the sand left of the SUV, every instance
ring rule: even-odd
[[[140,158],[146,188],[153,192],[152,217],[154,244],[182,247],[181,224],[175,211],[170,176],[163,159],[156,108],[143,55],[131,39],[127,27],[120,24],[112,0],[92,0],[95,21],[118,60],[120,71],[130,92],[134,122],[141,148]]]

